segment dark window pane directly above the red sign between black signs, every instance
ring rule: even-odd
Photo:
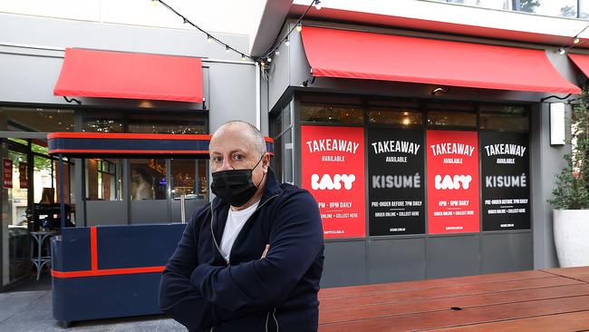
[[[474,105],[460,103],[430,103],[428,126],[477,127]]]

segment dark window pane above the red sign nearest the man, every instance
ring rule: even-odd
[[[301,105],[301,121],[362,124],[362,108],[328,104],[304,103]]]

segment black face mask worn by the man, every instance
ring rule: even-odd
[[[246,204],[248,200],[251,200],[256,194],[257,186],[252,181],[252,171],[254,171],[257,165],[262,161],[262,158],[266,153],[262,155],[256,166],[251,170],[227,170],[227,171],[216,171],[213,173],[213,182],[210,184],[210,190],[213,191],[221,200],[226,200],[231,206],[240,207]],[[266,175],[266,174],[265,174]]]

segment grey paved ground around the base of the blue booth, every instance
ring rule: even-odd
[[[44,278],[50,277],[44,276]],[[0,293],[0,331],[186,331],[186,328],[165,316],[90,320],[74,322],[71,327],[63,328],[52,317],[50,287],[45,279],[45,283],[43,280],[38,283],[31,281],[28,285],[14,291]],[[39,288],[41,290],[38,290]]]

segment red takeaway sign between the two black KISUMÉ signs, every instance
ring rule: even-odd
[[[477,132],[428,131],[428,233],[478,232]]]

